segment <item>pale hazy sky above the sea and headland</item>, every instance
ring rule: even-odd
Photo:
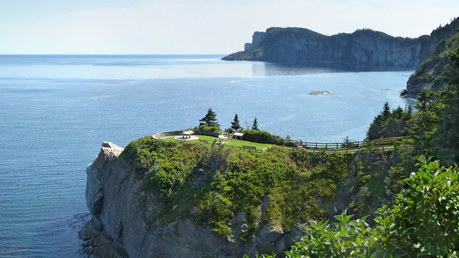
[[[230,54],[254,31],[418,37],[457,0],[0,0],[0,54]]]

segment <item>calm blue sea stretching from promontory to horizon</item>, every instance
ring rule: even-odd
[[[83,257],[86,165],[125,146],[237,113],[303,141],[363,140],[405,68],[227,62],[219,56],[0,56],[0,257]],[[308,95],[311,91],[327,95]]]

